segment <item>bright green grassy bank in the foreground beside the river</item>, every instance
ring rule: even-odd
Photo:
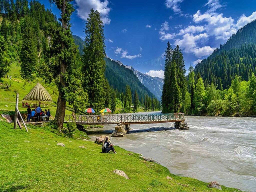
[[[47,127],[29,128],[29,133],[14,130],[13,123],[0,120],[0,191],[219,191],[196,179],[172,175],[118,146],[118,154],[102,154],[101,145],[82,140],[79,131],[74,138],[65,138]],[[57,146],[58,142],[66,146]],[[115,169],[130,179],[114,174]],[[238,190],[222,186],[222,191]]]

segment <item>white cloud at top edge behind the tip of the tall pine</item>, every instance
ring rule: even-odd
[[[101,0],[75,0],[77,7],[78,16],[86,20],[88,18],[88,14],[90,13],[90,9],[98,10],[101,14],[101,18],[104,24],[110,24],[111,19],[109,18],[110,7],[109,1],[101,1]]]

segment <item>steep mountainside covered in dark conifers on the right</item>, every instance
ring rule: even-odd
[[[216,49],[207,59],[195,67],[205,85],[214,83],[223,89],[231,86],[238,75],[248,81],[256,69],[256,20],[248,23],[232,35],[229,40]]]

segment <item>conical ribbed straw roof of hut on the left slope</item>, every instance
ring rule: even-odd
[[[52,101],[52,98],[46,89],[40,83],[37,83],[23,100]]]

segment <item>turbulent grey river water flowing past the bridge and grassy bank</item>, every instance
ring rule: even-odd
[[[152,157],[173,174],[255,192],[256,118],[186,116],[186,122],[187,131],[172,129],[174,123],[131,125],[131,133],[111,142]]]

